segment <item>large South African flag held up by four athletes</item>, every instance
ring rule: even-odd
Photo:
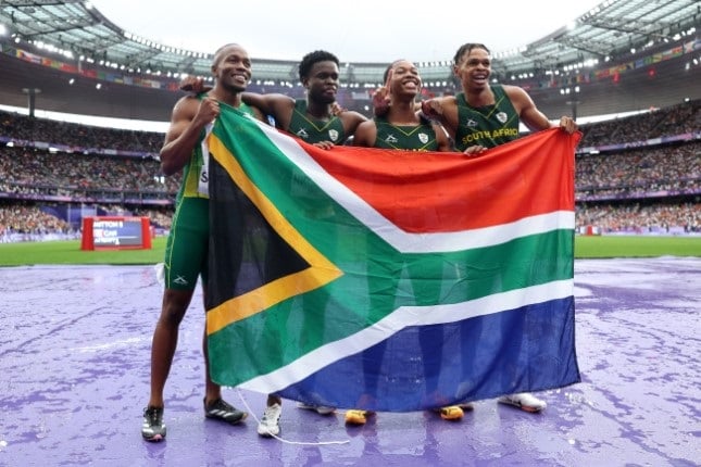
[[[579,381],[574,149],[322,150],[222,105],[210,136],[212,378],[408,412]]]

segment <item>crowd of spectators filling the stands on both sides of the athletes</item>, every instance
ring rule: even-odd
[[[89,203],[110,214],[146,215],[167,229],[179,176],[163,177],[163,135],[61,123],[0,112],[0,237],[79,228],[41,207]],[[698,135],[701,101],[584,125],[580,148]],[[674,138],[673,138],[674,139]],[[45,142],[45,143],[37,143]],[[50,150],[62,146],[62,151]],[[65,149],[70,147],[70,149]],[[139,156],[120,155],[118,151]],[[631,144],[578,154],[577,226],[603,231],[699,231],[701,140]],[[681,198],[679,198],[681,197]],[[669,202],[675,200],[674,202]],[[646,230],[647,229],[647,230]]]

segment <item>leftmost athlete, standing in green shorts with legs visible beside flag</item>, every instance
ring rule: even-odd
[[[220,48],[212,63],[214,87],[198,96],[177,101],[161,149],[161,168],[167,175],[183,171],[173,226],[167,238],[164,262],[165,290],[161,316],[153,331],[151,346],[151,392],[143,409],[141,436],[147,441],[165,439],[163,389],[177,346],[178,328],[192,300],[198,277],[206,288],[209,243],[209,193],[206,168],[209,151],[202,148],[220,105],[231,105],[259,119],[263,115],[241,101],[251,79],[251,60],[238,45]],[[231,425],[246,419],[245,412],[222,399],[222,389],[210,378],[206,332],[202,340],[205,362],[204,416]]]

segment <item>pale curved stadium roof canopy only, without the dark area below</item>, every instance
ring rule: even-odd
[[[605,0],[577,18],[518,50],[495,54],[493,71],[520,75],[558,72],[616,60],[661,43],[694,37],[698,0]],[[84,0],[3,0],[0,24],[17,43],[27,41],[76,61],[133,73],[210,75],[212,56],[139,37],[113,24]],[[255,59],[255,58],[254,58]],[[296,61],[255,60],[261,79],[290,80]],[[421,64],[424,80],[450,76],[450,60]],[[351,63],[347,83],[381,83],[386,64]],[[431,76],[433,75],[433,76]]]

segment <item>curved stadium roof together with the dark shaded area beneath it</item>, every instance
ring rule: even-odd
[[[492,78],[523,87],[551,117],[664,108],[701,98],[698,0],[605,0],[572,28],[492,56]],[[253,92],[304,98],[295,60],[253,56]],[[84,0],[0,0],[0,103],[67,114],[167,121],[184,74],[212,56],[121,29]],[[418,62],[428,97],[454,93],[450,59]],[[341,66],[338,102],[366,115],[385,63]],[[424,96],[426,97],[426,96]]]

